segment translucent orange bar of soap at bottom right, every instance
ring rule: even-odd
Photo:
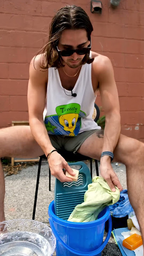
[[[123,240],[123,246],[133,251],[143,244],[142,236],[133,234]]]

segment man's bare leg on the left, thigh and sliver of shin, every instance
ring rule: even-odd
[[[43,150],[31,134],[30,126],[0,129],[0,158],[4,156],[34,158],[43,154]],[[0,222],[5,220],[4,197],[5,180],[0,161]]]

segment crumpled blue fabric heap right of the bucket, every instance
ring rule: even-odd
[[[116,218],[125,217],[130,212],[133,212],[133,208],[128,199],[128,191],[122,190],[118,202],[109,207],[110,212],[113,214],[113,217]]]

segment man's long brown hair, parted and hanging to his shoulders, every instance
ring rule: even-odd
[[[62,32],[65,29],[85,29],[87,38],[90,41],[92,24],[86,12],[78,6],[65,6],[58,10],[49,26],[49,39],[42,48],[42,69],[49,67],[60,68],[64,66],[63,59],[58,53],[57,45]],[[94,59],[89,57],[89,53],[82,59],[81,64],[92,63]]]

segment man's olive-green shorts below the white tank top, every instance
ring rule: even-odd
[[[57,150],[64,149],[76,153],[82,143],[93,133],[95,130],[79,133],[75,137],[65,135],[51,135],[49,134],[50,141],[53,147]]]

